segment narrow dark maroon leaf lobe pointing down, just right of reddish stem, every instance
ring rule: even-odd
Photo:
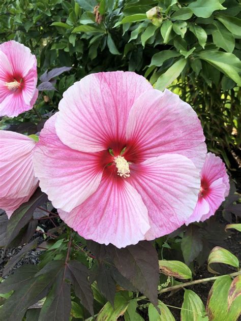
[[[69,261],[67,264],[66,277],[71,281],[75,294],[80,298],[83,306],[94,315],[93,293],[88,280],[89,271],[79,261]]]

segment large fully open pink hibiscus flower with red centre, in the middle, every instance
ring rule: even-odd
[[[205,153],[188,104],[135,73],[109,72],[86,76],[64,93],[41,132],[34,168],[71,228],[125,247],[187,220]]]

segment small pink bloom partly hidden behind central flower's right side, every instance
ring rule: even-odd
[[[204,221],[214,215],[229,194],[229,178],[222,159],[207,153],[200,173],[201,188],[193,214],[186,224]]]

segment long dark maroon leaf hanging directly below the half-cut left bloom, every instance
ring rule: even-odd
[[[31,220],[36,207],[46,200],[47,195],[40,188],[37,188],[31,199],[14,211],[9,219],[5,246],[8,246],[15,239],[20,230]]]

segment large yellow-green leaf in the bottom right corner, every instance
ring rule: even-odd
[[[241,313],[241,297],[233,301],[228,310],[228,294],[232,283],[229,275],[220,276],[213,284],[207,298],[206,312],[212,321],[236,321]]]

